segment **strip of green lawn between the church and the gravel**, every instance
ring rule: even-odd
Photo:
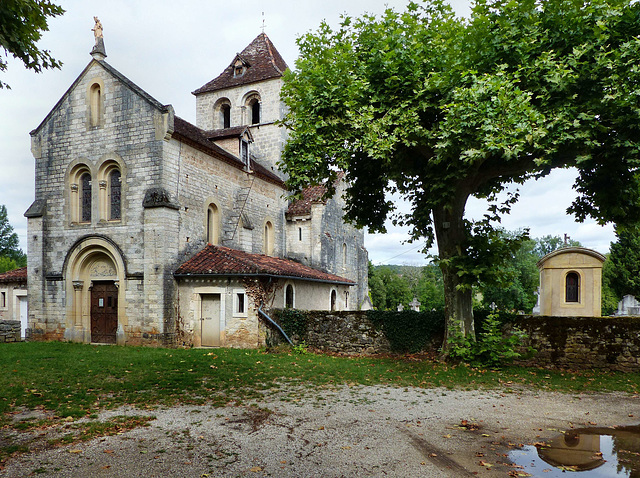
[[[0,417],[44,408],[79,418],[125,404],[229,402],[288,393],[313,394],[341,384],[395,387],[637,393],[640,374],[601,371],[500,371],[452,366],[417,357],[346,358],[239,349],[156,349],[60,342],[0,344]],[[0,420],[2,420],[0,418]]]

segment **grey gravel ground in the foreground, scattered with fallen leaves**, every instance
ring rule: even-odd
[[[0,476],[505,477],[514,470],[502,464],[510,447],[572,426],[640,423],[640,398],[622,394],[344,386],[303,396],[103,412],[101,419],[156,418],[120,435],[14,457]]]

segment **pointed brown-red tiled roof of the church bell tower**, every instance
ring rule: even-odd
[[[217,78],[198,88],[194,95],[256,81],[279,78],[288,68],[266,33],[258,35]]]

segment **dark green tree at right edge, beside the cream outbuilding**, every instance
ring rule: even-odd
[[[627,294],[640,297],[640,226],[617,226],[616,237],[609,263],[604,265],[603,281],[619,299]]]

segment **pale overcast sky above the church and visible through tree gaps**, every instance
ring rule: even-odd
[[[93,16],[104,27],[106,61],[176,114],[195,124],[192,91],[218,76],[261,31],[291,68],[298,55],[296,38],[316,30],[324,19],[337,25],[340,15],[378,14],[385,6],[404,9],[405,0],[67,0],[55,1],[66,13],[49,21],[40,45],[64,65],[35,74],[9,58],[0,89],[0,204],[26,251],[27,221],[23,213],[34,199],[34,160],[29,132],[36,128],[89,63],[93,47]],[[470,2],[453,0],[459,15]],[[264,17],[263,17],[264,12]],[[557,171],[520,188],[520,202],[505,217],[509,230],[528,227],[532,237],[568,234],[585,247],[606,253],[615,240],[612,226],[576,223],[566,214],[574,197],[575,173]],[[400,205],[400,207],[403,207]],[[484,212],[479,201],[467,208],[470,217]],[[367,235],[365,245],[374,264],[424,264],[420,244],[403,244],[406,230],[389,227],[386,235]]]

